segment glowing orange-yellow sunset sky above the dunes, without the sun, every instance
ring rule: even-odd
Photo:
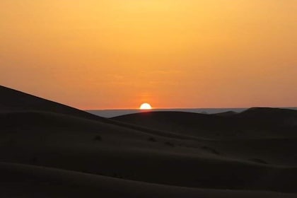
[[[296,52],[297,0],[0,0],[0,85],[83,110],[296,107]]]

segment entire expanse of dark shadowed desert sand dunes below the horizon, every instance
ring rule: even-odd
[[[105,119],[0,86],[0,197],[296,197],[297,112]]]

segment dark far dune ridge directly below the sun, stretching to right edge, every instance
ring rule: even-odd
[[[114,117],[113,120],[219,140],[297,136],[297,111],[276,108],[251,108],[241,113],[227,112],[225,116],[190,112],[146,112]]]

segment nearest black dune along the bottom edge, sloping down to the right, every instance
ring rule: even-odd
[[[34,165],[0,163],[1,197],[296,197],[248,190],[175,187]]]

